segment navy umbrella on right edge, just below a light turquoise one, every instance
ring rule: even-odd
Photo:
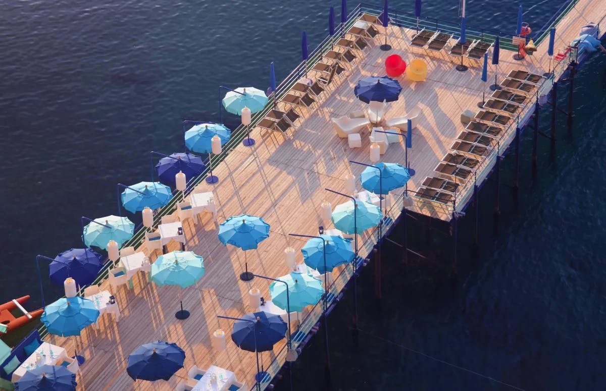
[[[231,340],[248,352],[267,352],[286,335],[287,324],[279,315],[255,312],[233,324]]]

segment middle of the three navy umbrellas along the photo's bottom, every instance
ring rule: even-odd
[[[134,380],[168,380],[183,367],[185,352],[175,343],[156,341],[139,346],[128,356],[126,372]]]

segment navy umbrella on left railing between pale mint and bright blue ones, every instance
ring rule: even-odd
[[[92,284],[103,268],[103,256],[90,248],[73,248],[58,254],[50,263],[50,279],[63,286],[72,277],[80,286]]]

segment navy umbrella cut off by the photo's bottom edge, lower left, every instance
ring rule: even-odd
[[[76,373],[64,366],[42,365],[15,383],[16,391],[76,391]]]

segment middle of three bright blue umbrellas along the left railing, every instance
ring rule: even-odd
[[[125,188],[120,197],[124,209],[136,213],[146,207],[153,210],[167,205],[173,194],[160,182],[139,182]]]

